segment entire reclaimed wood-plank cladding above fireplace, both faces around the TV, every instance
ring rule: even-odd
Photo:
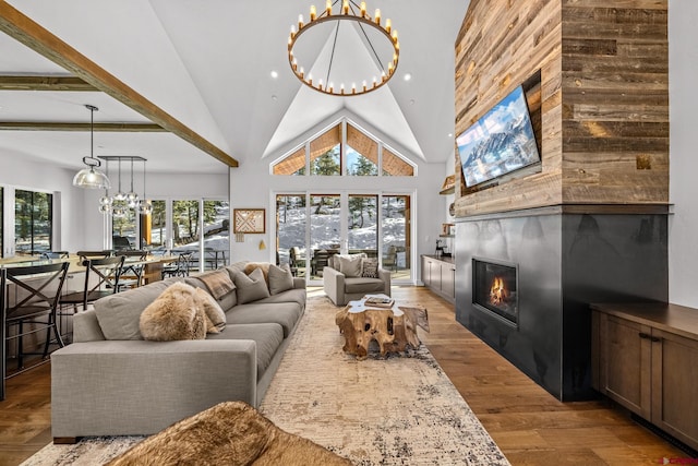
[[[461,180],[456,216],[669,202],[666,15],[666,0],[471,0],[456,40],[456,134],[540,73],[527,98],[540,106],[541,164],[479,191]]]

